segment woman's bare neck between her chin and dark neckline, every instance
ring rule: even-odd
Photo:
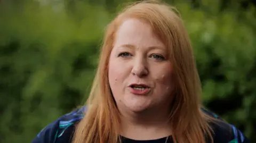
[[[166,107],[165,107],[166,108]],[[121,135],[138,140],[158,139],[171,134],[169,111],[154,108],[139,113],[121,112]]]

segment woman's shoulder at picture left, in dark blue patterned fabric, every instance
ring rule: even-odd
[[[31,143],[56,143],[65,140],[69,143],[75,124],[84,117],[86,107],[79,108],[73,112],[62,115],[59,119],[43,128]],[[66,143],[63,142],[63,143]]]

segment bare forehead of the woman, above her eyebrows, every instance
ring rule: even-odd
[[[130,44],[138,47],[165,47],[150,24],[139,19],[123,21],[116,32],[115,46]]]

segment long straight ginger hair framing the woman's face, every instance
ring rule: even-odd
[[[173,64],[175,90],[171,103],[170,123],[174,142],[213,142],[210,116],[201,111],[201,83],[193,49],[179,12],[156,1],[133,3],[119,13],[107,27],[101,48],[98,70],[87,100],[84,118],[76,125],[73,143],[117,143],[120,115],[108,82],[109,56],[115,34],[125,19],[147,22],[168,48]]]

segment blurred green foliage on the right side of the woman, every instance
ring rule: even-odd
[[[239,20],[235,12],[208,15],[183,5],[181,11],[193,43],[205,106],[255,141],[255,24]],[[253,16],[250,19],[255,21]]]

